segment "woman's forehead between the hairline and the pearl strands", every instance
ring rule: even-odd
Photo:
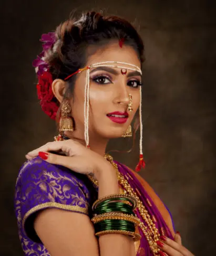
[[[139,68],[141,66],[137,52],[128,45],[123,45],[120,48],[118,42],[100,46],[94,54],[89,56],[87,65],[104,61],[121,61],[136,65]]]

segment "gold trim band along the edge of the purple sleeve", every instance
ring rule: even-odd
[[[39,205],[36,205],[35,207],[33,207],[32,209],[30,209],[25,214],[25,216],[23,218],[23,222],[22,222],[23,230],[24,230],[25,221],[26,221],[27,217],[30,214],[32,214],[34,212],[37,212],[39,210],[42,210],[44,208],[47,208],[47,207],[55,207],[55,208],[58,208],[58,209],[61,209],[61,210],[68,210],[68,211],[80,212],[80,213],[88,214],[88,208],[83,208],[83,207],[80,207],[80,206],[77,206],[77,205],[73,206],[73,205],[67,205],[67,204],[59,204],[59,203],[56,203],[56,202],[48,202],[48,203],[44,203],[44,204],[39,204]]]

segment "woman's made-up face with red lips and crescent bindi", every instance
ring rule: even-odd
[[[97,50],[89,57],[86,65],[104,61],[127,62],[140,68],[140,61],[135,50],[126,45],[120,48],[118,43]],[[125,68],[129,67],[124,64],[118,65]],[[141,82],[141,75],[132,70],[127,70],[127,74],[124,75],[120,68],[101,67],[90,69],[89,136],[91,138],[96,136],[118,138],[125,133],[139,107],[139,82]],[[74,97],[70,102],[71,116],[75,120],[76,127],[74,132],[77,135],[84,135],[85,83],[86,70],[77,74]],[[132,95],[132,112],[128,111],[129,94]],[[120,121],[122,120],[122,123],[120,123],[119,118],[109,116],[113,112],[122,114],[127,112],[128,118],[124,118],[124,120],[120,118]]]

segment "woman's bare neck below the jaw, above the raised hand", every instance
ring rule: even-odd
[[[83,136],[78,134],[78,131],[65,131],[65,136],[75,141],[78,141],[80,144],[86,146],[85,140]],[[98,136],[90,135],[89,134],[89,145],[90,149],[101,156],[104,156],[106,153],[108,139],[107,138],[100,138]]]

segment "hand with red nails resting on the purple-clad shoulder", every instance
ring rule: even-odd
[[[48,153],[48,151],[62,151],[65,156]],[[93,173],[97,176],[97,173],[104,169],[105,165],[112,168],[104,157],[72,139],[49,142],[30,151],[26,158],[32,159],[38,155],[48,163],[63,165],[81,174]]]

